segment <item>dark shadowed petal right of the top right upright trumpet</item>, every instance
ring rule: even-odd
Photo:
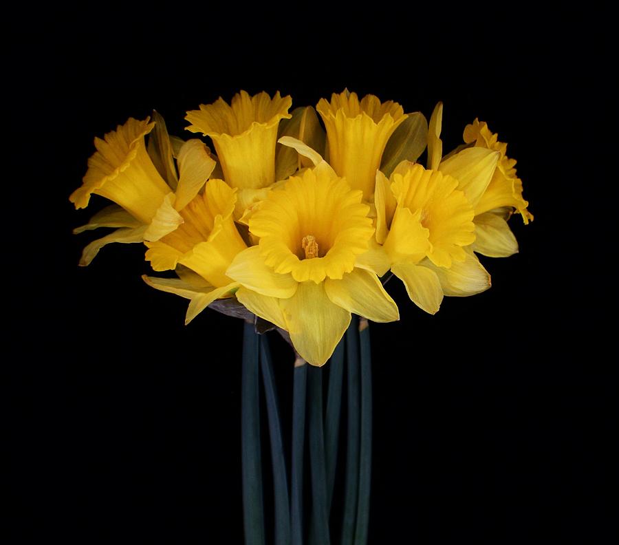
[[[416,161],[426,149],[428,122],[424,114],[415,111],[408,114],[402,125],[393,131],[382,154],[380,170],[389,177],[402,161]]]

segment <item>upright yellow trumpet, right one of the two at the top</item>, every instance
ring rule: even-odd
[[[406,119],[404,110],[374,95],[359,100],[356,93],[332,94],[316,106],[327,129],[329,164],[344,176],[352,189],[360,189],[371,200],[376,171],[389,137]]]

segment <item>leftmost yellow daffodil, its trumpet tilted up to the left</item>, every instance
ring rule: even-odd
[[[215,160],[204,143],[188,140],[179,149],[178,175],[173,164],[170,167],[171,151],[168,153],[166,168],[174,174],[168,178],[164,172],[164,180],[144,144],[144,136],[155,127],[155,122],[149,121],[150,118],[142,121],[129,118],[116,131],[107,133],[103,140],[95,139],[97,151],[88,160],[83,184],[69,200],[76,208],[85,208],[90,196],[96,194],[117,206],[103,209],[89,224],[74,232],[98,227],[116,227],[117,230],[91,242],[84,249],[81,265],[89,264],[100,248],[110,242],[152,242],[174,231],[184,221],[180,211],[202,189],[215,168]],[[164,128],[158,142],[162,139],[171,147]]]

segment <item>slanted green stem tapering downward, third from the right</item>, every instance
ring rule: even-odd
[[[331,511],[335,486],[340,412],[342,407],[342,381],[344,375],[344,339],[342,339],[329,362],[329,390],[327,392],[327,418],[325,425],[325,465],[327,468],[327,512]]]

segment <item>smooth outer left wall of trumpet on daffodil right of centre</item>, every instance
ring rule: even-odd
[[[422,226],[421,215],[421,210],[412,213],[402,206],[395,210],[391,230],[383,245],[391,263],[420,261],[431,250],[429,231]]]

